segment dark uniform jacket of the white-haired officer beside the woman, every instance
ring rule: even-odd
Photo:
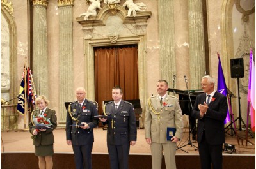
[[[92,101],[85,99],[82,107],[79,106],[78,101],[70,103],[67,111],[66,139],[72,140],[73,145],[93,143],[93,128],[99,124],[99,119],[94,118],[95,115],[98,115],[97,105]],[[81,122],[86,122],[90,128],[82,129],[77,126],[70,126],[79,125]]]

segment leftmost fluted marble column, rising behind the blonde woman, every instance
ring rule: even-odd
[[[33,1],[33,78],[36,93],[48,97],[47,2]]]

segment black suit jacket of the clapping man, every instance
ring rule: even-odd
[[[193,106],[192,117],[198,119],[197,142],[201,142],[205,132],[205,138],[210,145],[220,145],[225,143],[224,121],[227,116],[227,98],[217,91],[212,98],[215,98],[214,101],[211,100],[206,114],[200,118],[198,104],[204,105],[206,94],[198,95]]]

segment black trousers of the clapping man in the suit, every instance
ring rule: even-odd
[[[198,143],[200,163],[202,169],[222,169],[222,144],[210,145],[203,134],[202,141]]]

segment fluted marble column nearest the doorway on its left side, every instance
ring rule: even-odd
[[[58,127],[65,127],[67,110],[65,102],[71,102],[74,98],[74,75],[73,75],[73,1],[58,1],[60,11],[60,87],[59,87],[59,110],[60,116]]]

